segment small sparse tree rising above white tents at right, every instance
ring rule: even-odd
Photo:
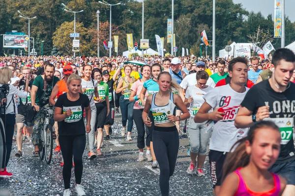
[[[248,35],[248,37],[250,38],[249,43],[253,44],[252,49],[255,55],[268,41],[273,41],[273,35],[269,33],[269,30],[265,32],[262,28],[260,28],[260,25],[258,26],[257,31],[252,35]]]

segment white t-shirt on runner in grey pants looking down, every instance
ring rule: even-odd
[[[189,86],[186,89],[185,98],[193,98],[193,102],[189,106],[189,113],[191,117],[195,117],[202,104],[205,102],[204,95],[206,95],[213,88],[208,86],[205,89],[200,89],[195,86]]]

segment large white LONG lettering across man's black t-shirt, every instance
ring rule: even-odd
[[[265,101],[266,106],[270,106],[268,101]],[[293,113],[281,114],[280,113]],[[295,116],[295,100],[273,101],[272,110],[269,108],[269,115],[276,114],[275,118],[291,118]],[[283,115],[283,116],[282,116]]]

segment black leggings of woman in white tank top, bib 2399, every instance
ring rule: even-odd
[[[160,167],[160,190],[162,196],[169,196],[169,179],[173,175],[179,147],[176,126],[155,126],[152,134],[153,149]]]

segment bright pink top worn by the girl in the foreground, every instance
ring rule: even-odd
[[[271,173],[274,181],[274,188],[265,192],[254,192],[251,191],[245,183],[241,173],[239,172],[240,169],[241,168],[235,171],[239,178],[238,188],[236,190],[235,196],[279,196],[279,193],[281,191],[281,183],[280,178],[277,174]]]

